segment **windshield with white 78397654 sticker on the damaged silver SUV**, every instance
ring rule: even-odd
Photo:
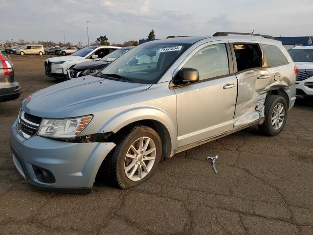
[[[114,76],[130,82],[154,84],[190,46],[181,43],[145,43],[123,54],[95,76],[108,79]]]

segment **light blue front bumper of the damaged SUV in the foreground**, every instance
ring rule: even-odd
[[[10,145],[16,168],[33,186],[63,192],[90,192],[100,165],[114,143],[71,143],[40,136],[23,138],[13,123]],[[34,168],[50,171],[54,183],[44,183]]]

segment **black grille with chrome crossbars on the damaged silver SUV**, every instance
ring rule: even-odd
[[[36,135],[37,129],[43,118],[39,118],[20,111],[18,117],[18,131],[26,139]]]

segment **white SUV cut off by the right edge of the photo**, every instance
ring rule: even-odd
[[[296,95],[313,95],[313,46],[293,47],[288,52],[299,69],[295,83]]]

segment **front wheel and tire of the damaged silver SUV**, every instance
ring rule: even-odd
[[[112,186],[127,189],[147,181],[161,160],[162,142],[156,131],[134,126],[105,158],[104,173]]]

